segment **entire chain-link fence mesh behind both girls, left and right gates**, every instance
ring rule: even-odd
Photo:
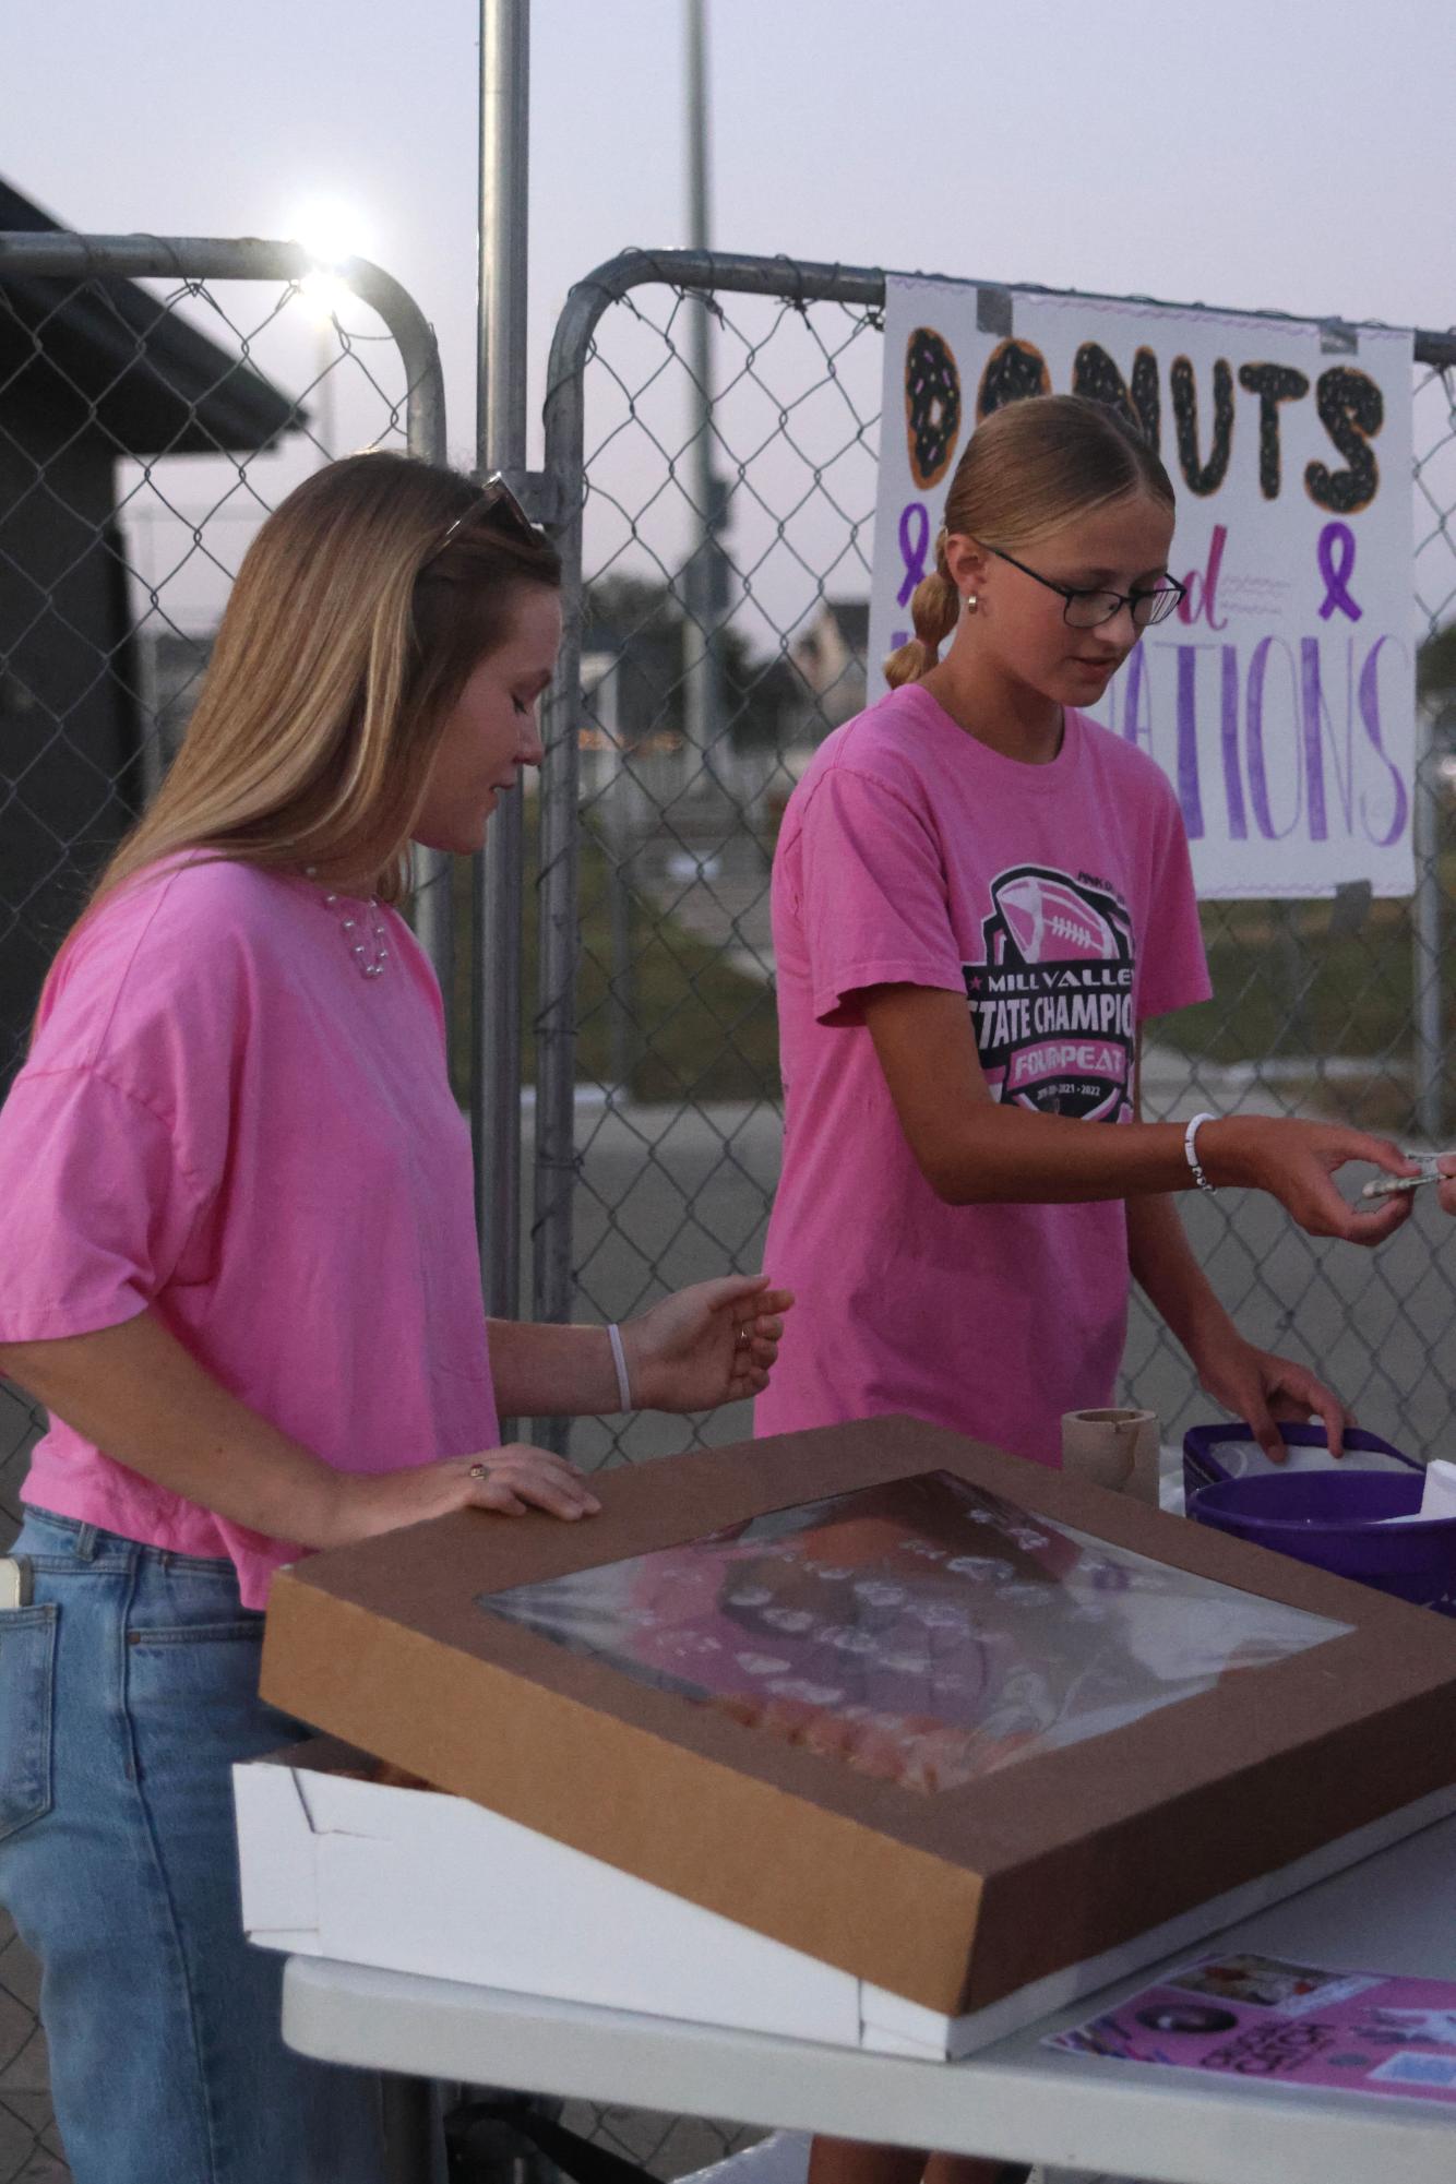
[[[347,286],[369,308],[308,297],[306,273],[279,245],[0,236],[0,1079],[55,943],[175,749],[251,529],[330,454],[443,450],[408,297],[358,264]],[[875,271],[631,258],[583,282],[559,328],[530,480],[578,607],[526,830],[541,1317],[620,1319],[762,1254],[781,1125],[768,869],[808,756],[867,690],[882,293]],[[1155,1037],[1155,1114],[1336,1112],[1428,1140],[1456,1123],[1441,959],[1456,343],[1425,356],[1417,590],[1423,627],[1447,636],[1423,666],[1423,889],[1334,911],[1212,904],[1218,1000]],[[469,963],[452,981],[450,889],[428,878],[419,922],[463,1020]],[[1428,1206],[1373,1258],[1314,1247],[1253,1201],[1201,1199],[1190,1225],[1246,1332],[1303,1348],[1371,1426],[1434,1446],[1452,1273]],[[1144,1313],[1129,1389],[1170,1439],[1201,1413]],[[0,1387],[0,1546],[35,1431]],[[574,1455],[637,1461],[747,1431],[742,1409],[583,1422]],[[568,2121],[659,2175],[753,2136],[587,2103]],[[0,2184],[63,2173],[35,1972],[0,1924]]]

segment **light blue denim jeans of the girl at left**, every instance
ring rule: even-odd
[[[378,2079],[279,2033],[242,1937],[234,1760],[308,1730],[258,1697],[229,1562],[28,1509],[0,1612],[0,1902],[41,1961],[76,2184],[378,2184]]]

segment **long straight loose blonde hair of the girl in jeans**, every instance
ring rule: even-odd
[[[469,511],[480,487],[402,454],[297,485],[249,546],[183,745],[83,911],[181,850],[408,887],[430,762],[522,585],[561,561]],[[463,522],[445,542],[456,520]]]

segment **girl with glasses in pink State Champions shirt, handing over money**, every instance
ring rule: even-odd
[[[1207,970],[1174,791],[1081,708],[1179,601],[1172,520],[1163,465],[1113,411],[993,413],[891,695],[788,804],[766,1254],[799,1308],[760,1433],[904,1411],[1057,1465],[1061,1415],[1113,1400],[1137,1280],[1266,1448],[1310,1411],[1340,1441],[1338,1398],[1218,1304],[1172,1195],[1260,1188],[1310,1234],[1380,1243],[1404,1208],[1356,1212],[1332,1177],[1410,1164],[1338,1125],[1139,1116],[1142,1024],[1207,998]],[[923,2160],[819,2140],[810,2177],[912,2184]]]

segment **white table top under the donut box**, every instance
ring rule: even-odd
[[[1456,1979],[1456,1819],[969,2062],[864,2055],[317,1957],[288,1961],[284,2035],[306,2055],[406,2075],[1161,2184],[1452,2184],[1452,2108],[1231,2086],[1041,2046],[1048,2031],[1081,2025],[1161,1970],[1236,1946],[1338,1970]]]

